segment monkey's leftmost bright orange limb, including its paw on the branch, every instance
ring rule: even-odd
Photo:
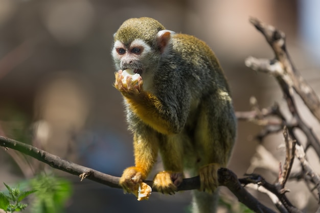
[[[135,133],[133,136],[135,166],[123,171],[119,184],[125,192],[137,193],[139,183],[145,180],[157,158],[157,138],[154,132]]]

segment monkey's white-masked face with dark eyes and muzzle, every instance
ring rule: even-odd
[[[116,40],[112,57],[117,69],[132,69],[142,76],[149,67],[151,52],[151,47],[141,39],[135,39],[127,45]]]

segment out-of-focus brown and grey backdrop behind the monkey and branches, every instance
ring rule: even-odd
[[[0,133],[121,176],[123,169],[133,164],[132,139],[121,94],[112,87],[116,70],[110,50],[112,34],[124,20],[153,17],[167,29],[207,42],[224,68],[235,109],[246,111],[251,109],[252,96],[260,107],[275,101],[285,107],[276,81],[244,65],[248,56],[273,58],[263,36],[248,22],[249,17],[286,33],[293,62],[319,93],[319,9],[317,0],[0,0]],[[318,123],[305,111],[308,124],[316,128]],[[255,153],[258,143],[252,138],[260,128],[243,122],[238,126],[229,168],[241,177]],[[277,149],[281,143],[282,138],[275,136],[264,145],[283,160],[284,150]],[[161,164],[155,169],[159,168]],[[21,155],[1,148],[0,169],[0,182],[6,183],[48,170],[36,161],[25,163]],[[65,212],[179,213],[187,212],[191,201],[190,192],[183,192],[175,196],[153,193],[149,201],[138,202],[121,190],[54,172],[73,185]],[[314,202],[312,196],[304,196],[303,207]],[[270,204],[266,197],[261,199]]]

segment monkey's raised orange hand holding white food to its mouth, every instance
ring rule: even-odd
[[[131,75],[126,76],[124,80],[121,69],[115,73],[115,76],[115,87],[124,94],[124,96],[134,95],[142,90],[143,80],[141,76],[138,77],[138,81],[132,81]]]

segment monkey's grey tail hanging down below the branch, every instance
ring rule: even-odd
[[[194,190],[192,201],[192,213],[214,213],[218,206],[219,190],[209,194]]]

